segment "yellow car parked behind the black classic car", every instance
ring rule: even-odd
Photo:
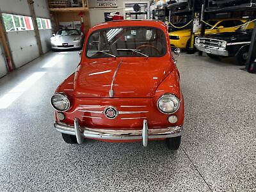
[[[234,26],[239,26],[246,22],[244,19],[216,19],[208,20],[207,23],[211,24],[205,25],[205,34],[214,34],[214,33],[225,33],[225,32],[234,32],[237,28]],[[170,44],[172,47],[177,47],[180,49],[188,49],[190,42],[191,29],[183,29],[180,31],[173,31],[169,33]],[[200,35],[200,31],[195,33],[196,36]]]

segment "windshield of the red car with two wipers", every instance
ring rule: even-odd
[[[166,54],[166,36],[161,29],[111,28],[95,31],[88,39],[88,58],[161,57]]]

